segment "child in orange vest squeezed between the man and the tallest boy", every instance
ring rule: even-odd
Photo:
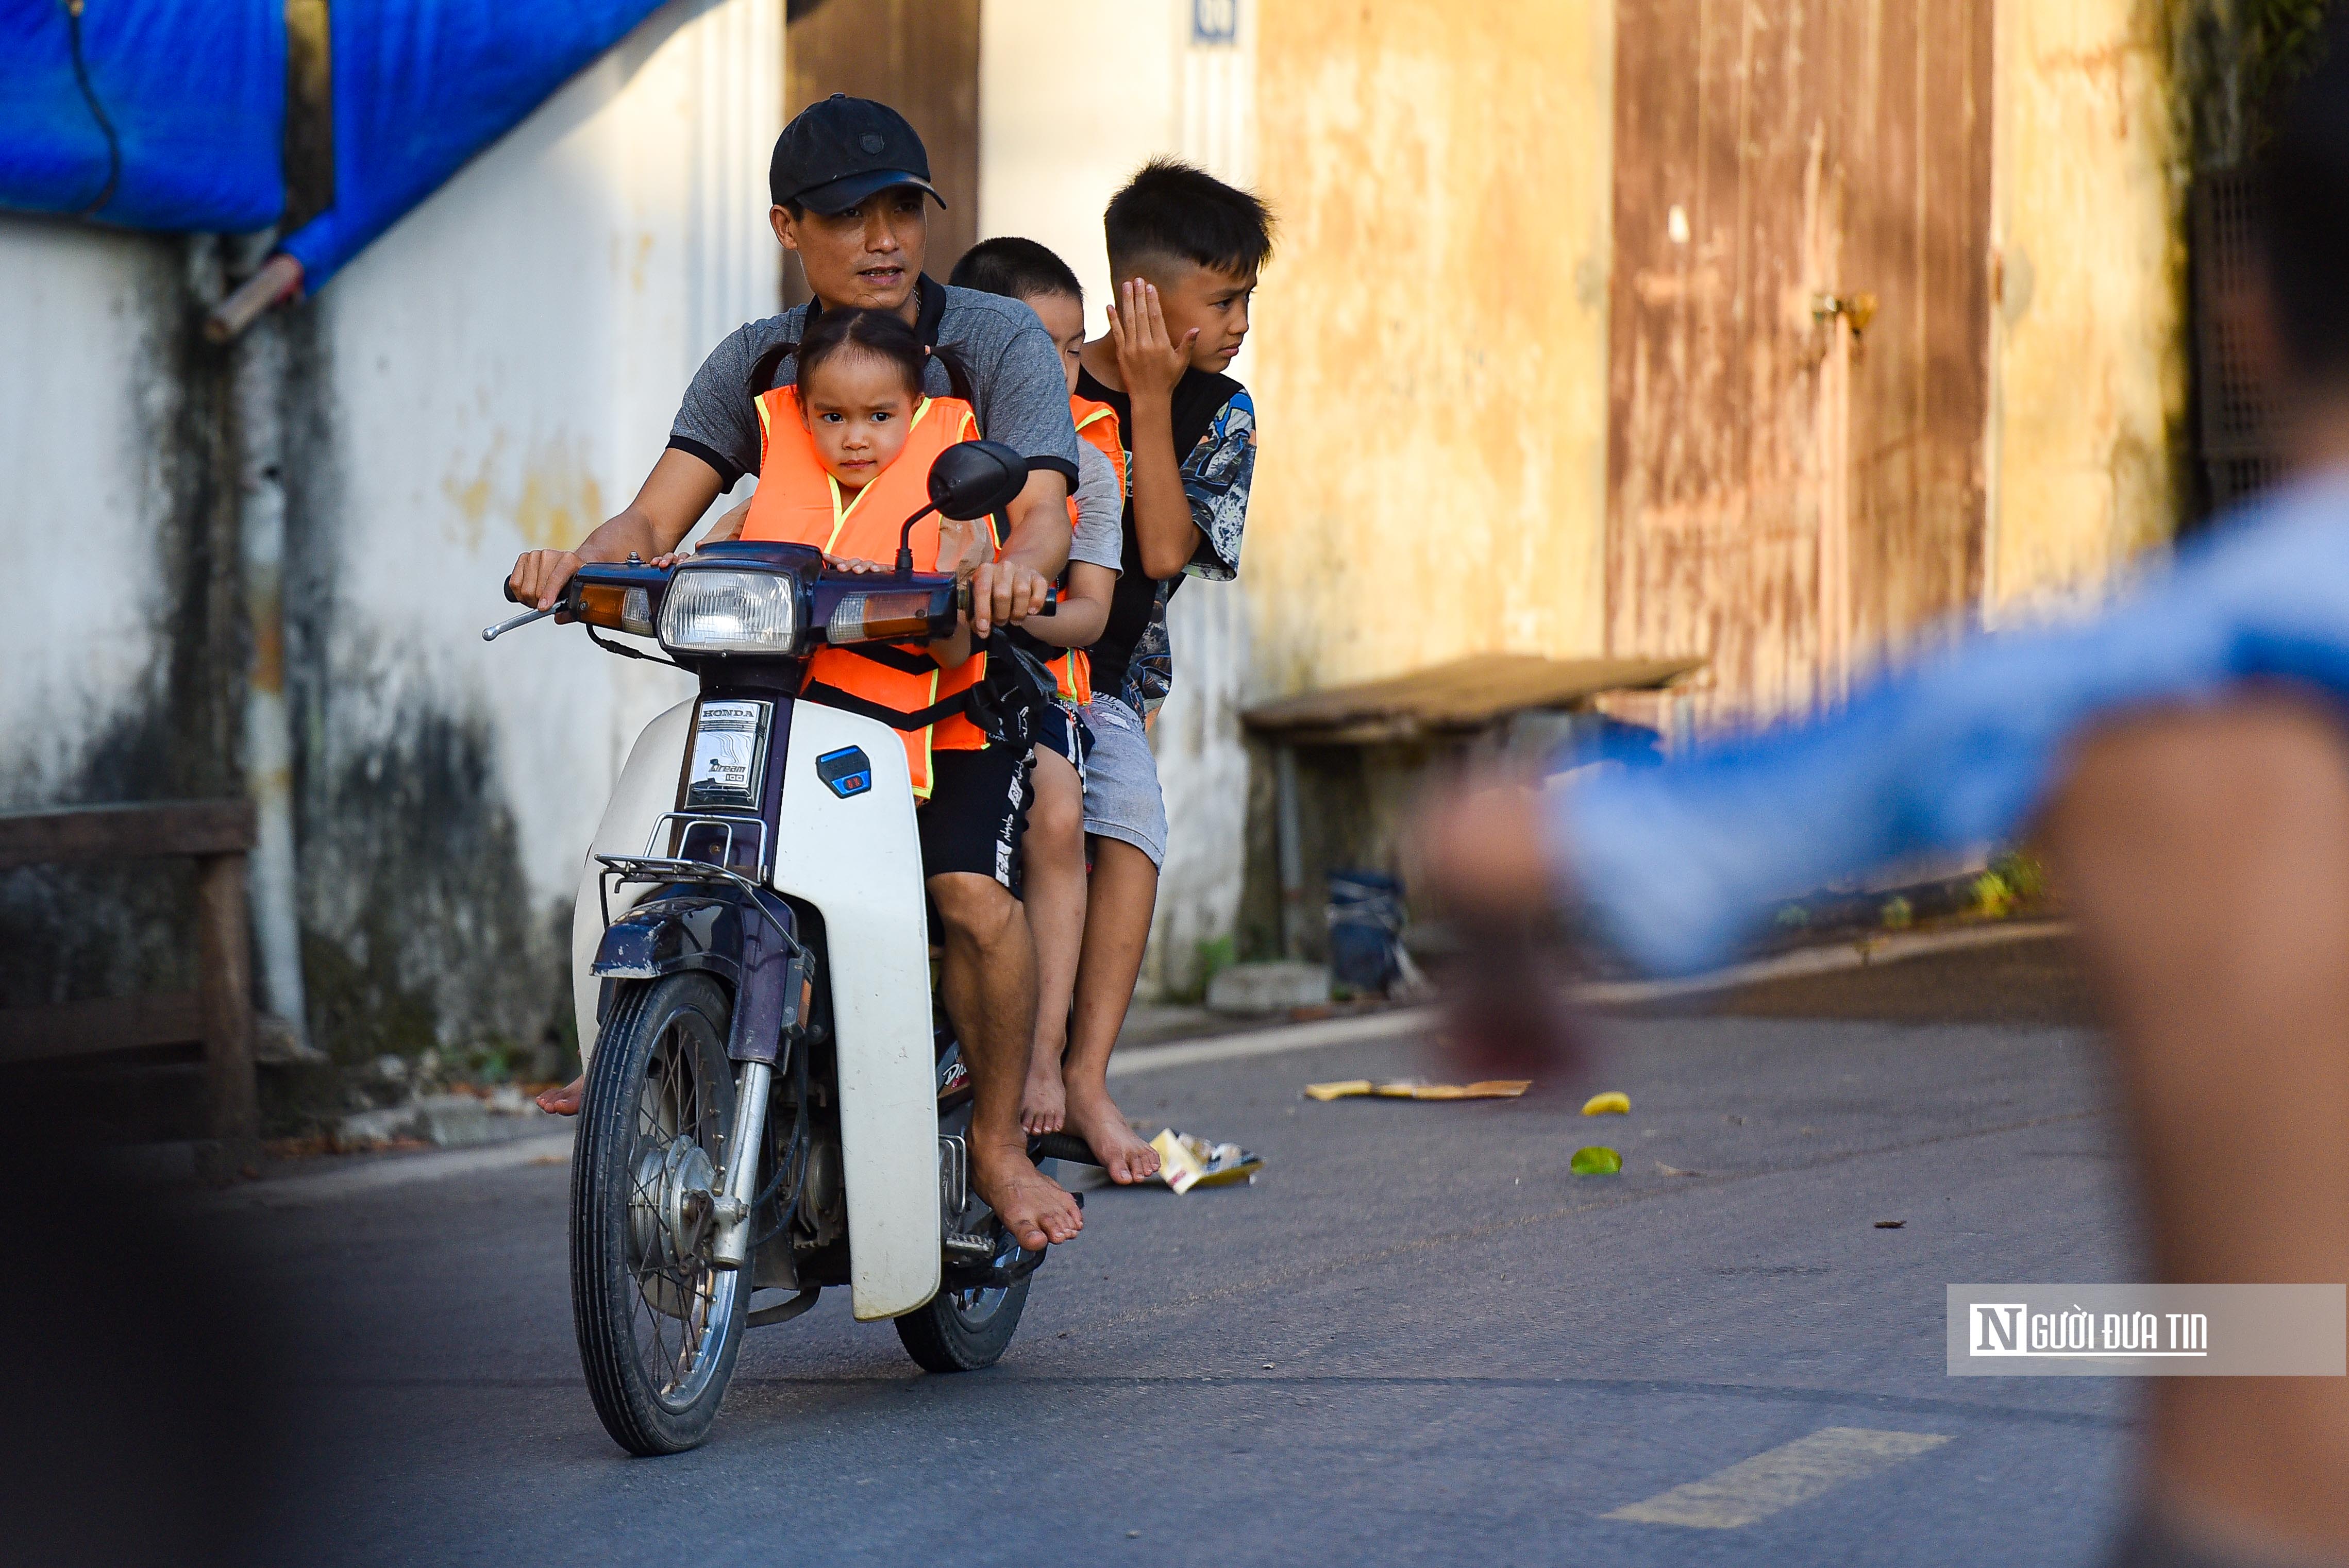
[[[1085,291],[1059,256],[1034,239],[984,239],[954,265],[958,289],[1003,293],[1043,322],[1069,371],[1069,413],[1078,425],[1078,484],[1071,500],[1076,540],[1062,577],[1059,608],[1029,620],[1057,678],[1055,702],[1036,744],[1036,807],[1029,815],[1029,927],[1036,932],[1036,1047],[1029,1056],[1019,1124],[1059,1131],[1073,1124],[1102,1157],[1120,1160],[1135,1178],[1158,1169],[1158,1155],[1135,1136],[1106,1091],[1069,1094],[1062,1056],[1069,1049],[1069,998],[1076,991],[1085,941],[1085,784],[1090,735],[1078,709],[1092,697],[1083,648],[1102,638],[1109,596],[1118,587],[1125,512],[1125,444],[1106,404],[1076,397],[1078,350],[1085,345]],[[1090,1087],[1090,1084],[1088,1084]]]

